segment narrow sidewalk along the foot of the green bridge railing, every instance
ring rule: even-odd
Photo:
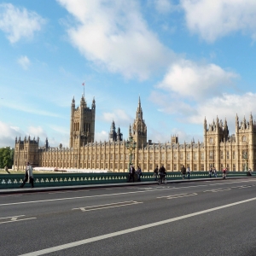
[[[238,178],[253,178],[253,177],[227,177],[228,179],[238,179]],[[167,184],[172,183],[194,183],[194,182],[202,182],[202,181],[212,181],[219,180],[224,181],[222,177],[208,177],[208,178],[195,178],[195,179],[181,179],[181,180],[167,180]],[[76,186],[60,186],[60,187],[42,187],[37,188],[37,184],[35,184],[35,188],[27,188],[27,189],[0,189],[0,195],[11,195],[11,194],[24,194],[24,193],[34,193],[34,192],[49,192],[49,191],[61,191],[61,190],[76,190],[76,189],[99,189],[99,188],[113,188],[113,187],[127,187],[127,186],[143,186],[143,185],[155,185],[157,187],[157,182],[137,182],[137,183],[108,183],[108,184],[92,184],[92,185],[76,185]],[[162,184],[166,185],[166,184]]]

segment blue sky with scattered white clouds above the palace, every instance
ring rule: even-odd
[[[203,140],[203,120],[256,117],[254,0],[0,3],[0,147],[68,146],[70,106],[96,99],[96,141],[128,137],[141,97],[148,139]]]

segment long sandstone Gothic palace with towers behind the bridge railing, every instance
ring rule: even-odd
[[[204,141],[202,143],[179,143],[172,136],[171,143],[152,143],[147,140],[147,126],[143,119],[143,109],[139,98],[136,119],[130,125],[129,136],[135,143],[129,151],[123,134],[114,122],[111,125],[108,142],[95,142],[96,102],[87,106],[84,96],[76,108],[71,104],[69,148],[49,147],[46,138],[44,147],[39,147],[39,138],[15,139],[15,170],[24,170],[26,162],[32,166],[55,167],[60,169],[98,169],[112,172],[127,172],[130,153],[135,168],[143,172],[153,172],[155,166],[164,165],[167,172],[177,172],[181,166],[189,166],[191,171],[207,171],[211,167],[230,171],[244,171],[248,166],[256,169],[256,123],[252,114],[249,121],[239,122],[236,114],[236,134],[229,135],[226,119],[224,123],[213,120],[207,125],[204,119]],[[131,150],[131,148],[130,148]]]

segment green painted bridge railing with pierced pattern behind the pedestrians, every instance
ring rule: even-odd
[[[228,172],[227,177],[246,177],[247,172]],[[256,173],[253,172],[253,176]],[[0,174],[0,189],[19,188],[23,181],[23,174]],[[191,172],[190,179],[207,178],[208,172]],[[213,176],[212,176],[213,177]],[[222,177],[222,172],[218,172],[218,177]],[[167,172],[167,180],[182,179],[180,172]],[[34,174],[35,187],[55,187],[55,186],[73,186],[102,183],[126,183],[128,179],[127,172],[113,173],[46,173]],[[154,172],[143,172],[142,182],[154,181]],[[24,188],[30,187],[26,183]]]

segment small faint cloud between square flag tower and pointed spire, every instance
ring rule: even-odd
[[[122,109],[115,109],[114,113],[103,113],[102,119],[107,121],[109,125],[111,125],[112,121],[114,121],[116,126],[127,126],[132,122],[131,116],[125,113]]]

